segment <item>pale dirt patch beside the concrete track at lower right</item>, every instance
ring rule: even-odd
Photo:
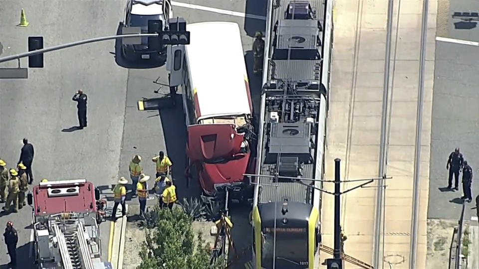
[[[448,268],[449,248],[457,220],[428,220],[427,269]]]

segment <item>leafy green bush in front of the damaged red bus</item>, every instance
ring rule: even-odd
[[[173,211],[155,207],[147,213],[146,238],[137,269],[220,269],[210,267],[211,248],[201,234],[195,239],[193,218],[179,207]]]

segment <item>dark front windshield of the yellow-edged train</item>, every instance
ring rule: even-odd
[[[299,266],[307,263],[308,234],[306,228],[276,228],[276,231],[275,243],[274,228],[263,229],[261,251],[263,267],[270,268],[272,266],[273,255],[276,258],[276,265],[278,263],[290,264],[293,267],[294,265]]]

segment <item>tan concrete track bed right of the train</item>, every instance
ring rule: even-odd
[[[336,0],[331,100],[328,119],[326,177],[334,178],[334,158],[341,158],[344,180],[378,176],[384,57],[388,1]],[[419,82],[421,0],[402,0],[399,27],[395,1],[391,59],[398,28],[391,136],[385,193],[384,261],[395,269],[409,267],[414,145]],[[437,1],[430,0],[423,107],[421,193],[417,268],[425,268],[431,104],[434,73]],[[393,70],[391,64],[391,72]],[[345,183],[351,188],[358,183]],[[375,186],[373,183],[371,186]],[[325,185],[329,190],[333,185]],[[341,223],[348,236],[345,252],[371,264],[376,188],[343,195]],[[333,196],[323,196],[323,244],[333,245]],[[321,260],[328,258],[324,255]],[[383,260],[383,259],[380,259]]]

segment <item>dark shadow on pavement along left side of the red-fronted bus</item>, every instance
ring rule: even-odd
[[[165,137],[166,151],[173,162],[173,179],[176,185],[178,200],[183,198],[198,197],[200,195],[200,184],[197,180],[190,180],[187,187],[186,169],[186,122],[183,110],[182,95],[175,94],[175,107],[161,108],[160,119]]]

